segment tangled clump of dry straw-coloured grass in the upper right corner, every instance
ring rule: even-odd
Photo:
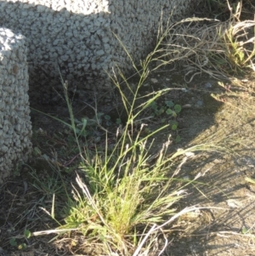
[[[161,64],[180,62],[185,80],[207,73],[229,79],[247,69],[255,70],[255,20],[240,20],[241,3],[235,14],[229,6],[227,21],[189,18],[174,24],[163,43]]]

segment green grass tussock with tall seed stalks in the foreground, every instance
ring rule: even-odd
[[[159,60],[157,56],[162,52],[161,45],[168,33],[169,30],[159,30],[156,48],[141,62],[142,69],[134,65],[132,57],[127,53],[139,75],[135,88],[129,85],[127,78],[118,69],[118,74],[111,77],[127,111],[126,125],[116,129],[113,148],[106,142],[105,149],[90,151],[86,142],[81,142],[77,135],[71,102],[67,97],[67,85],[62,81],[71,117],[68,127],[73,131],[81,161],[76,184],[72,184],[72,195],[67,195],[69,200],[64,208],[64,223],[54,231],[61,233],[61,230],[69,230],[70,236],[83,237],[83,245],[99,247],[104,254],[148,253],[158,246],[155,237],[160,234],[165,237],[167,244],[163,227],[170,225],[180,214],[195,209],[188,208],[178,213],[176,207],[173,207],[185,196],[184,187],[192,182],[189,180],[182,184],[180,179],[176,179],[181,167],[194,156],[193,151],[224,151],[223,147],[208,143],[169,154],[169,145],[173,143],[169,137],[161,145],[161,149],[154,151],[152,155],[154,136],[169,125],[161,126],[145,135],[145,123],[139,123],[137,128],[136,121],[150,107],[150,103],[171,90],[165,88],[153,94],[139,96],[139,89],[148,77],[150,64]],[[124,81],[125,90],[119,77]],[[131,100],[127,97],[127,92],[132,95]],[[141,99],[146,100],[140,103]],[[82,130],[85,128],[82,127]],[[107,141],[107,132],[105,136]],[[56,219],[53,213],[54,204],[49,214]],[[76,242],[74,248],[75,245]],[[162,247],[165,246],[161,245]]]

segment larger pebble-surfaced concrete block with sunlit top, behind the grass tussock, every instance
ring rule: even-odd
[[[58,100],[59,70],[81,99],[105,88],[105,71],[131,68],[155,43],[159,18],[184,17],[194,0],[0,0],[0,26],[27,37],[31,103]]]

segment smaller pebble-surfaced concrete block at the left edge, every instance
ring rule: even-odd
[[[25,37],[0,28],[0,184],[31,154]]]

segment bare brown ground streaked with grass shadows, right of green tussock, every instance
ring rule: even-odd
[[[168,78],[168,79],[167,79]],[[174,75],[158,75],[159,84],[173,82]],[[165,255],[254,255],[255,185],[246,177],[255,178],[254,125],[255,106],[248,88],[255,86],[254,76],[245,82],[225,82],[199,77],[179,95],[182,105],[182,141],[179,147],[203,142],[220,142],[229,153],[198,153],[180,171],[184,179],[196,179],[188,196],[179,202],[183,208],[197,205],[209,209],[181,217],[172,227],[170,244]],[[181,82],[180,82],[181,83]],[[184,82],[183,82],[184,84]],[[212,86],[212,87],[211,87]],[[231,92],[231,91],[232,92]],[[210,94],[220,95],[214,100]],[[231,152],[232,151],[232,152]],[[212,207],[212,208],[211,208]],[[211,208],[211,209],[210,209]]]

